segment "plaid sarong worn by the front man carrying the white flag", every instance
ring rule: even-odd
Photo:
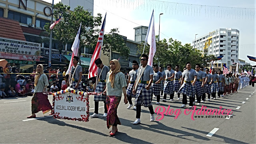
[[[142,84],[139,83],[137,87],[137,92],[136,92],[136,98],[135,98],[135,106],[137,105],[144,105],[144,107],[149,107],[152,106],[151,103],[151,92],[152,88],[150,86],[149,90],[145,88],[148,84]]]

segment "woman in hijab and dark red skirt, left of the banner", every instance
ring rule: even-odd
[[[46,92],[46,88],[49,85],[48,78],[43,72],[43,65],[38,64],[36,67],[36,77],[35,77],[35,89],[34,95],[31,100],[32,104],[32,115],[28,116],[27,118],[35,118],[36,113],[43,111],[43,114],[52,110],[52,105],[48,100],[48,96],[44,94]]]

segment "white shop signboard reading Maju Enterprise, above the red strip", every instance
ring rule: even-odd
[[[40,46],[39,43],[0,38],[0,52],[40,56]]]

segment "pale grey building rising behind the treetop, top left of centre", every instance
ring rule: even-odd
[[[92,12],[91,16],[93,16],[93,5],[94,0],[61,0],[64,5],[70,6],[70,10],[74,11],[74,8],[77,6],[84,7],[84,10],[88,10],[88,12]]]

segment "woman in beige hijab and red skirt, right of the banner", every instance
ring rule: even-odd
[[[121,101],[122,91],[124,93],[124,103],[127,104],[128,100],[126,97],[126,89],[127,86],[124,74],[120,71],[120,64],[118,60],[110,61],[110,71],[107,74],[106,78],[106,90],[103,94],[107,95],[106,104],[108,109],[107,116],[107,128],[112,126],[112,130],[110,131],[110,136],[114,136],[116,134],[117,125],[121,124],[118,116],[117,116],[117,108]]]

